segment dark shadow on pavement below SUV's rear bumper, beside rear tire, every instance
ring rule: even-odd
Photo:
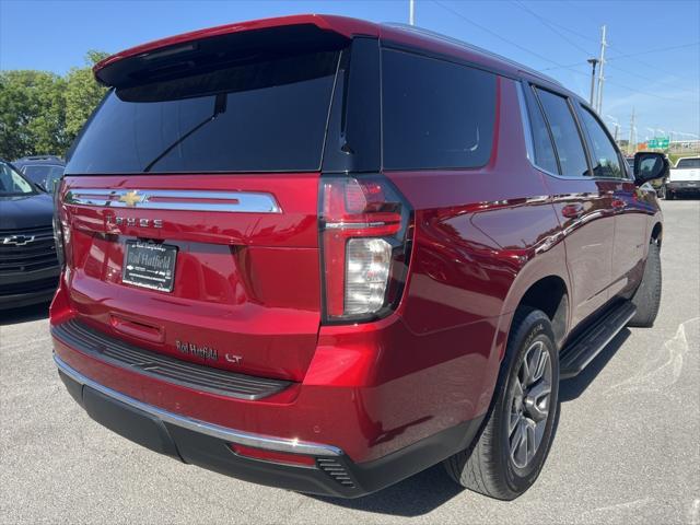
[[[428,514],[464,491],[465,489],[450,479],[442,464],[439,464],[384,490],[355,500],[311,494],[308,498],[346,509],[410,517]]]

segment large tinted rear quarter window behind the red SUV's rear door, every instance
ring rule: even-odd
[[[384,167],[478,167],[491,156],[495,75],[385,49]]]

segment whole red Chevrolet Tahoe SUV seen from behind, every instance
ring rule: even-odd
[[[513,499],[558,384],[651,326],[662,219],[551,79],[300,15],[119,52],[57,191],[55,360],[97,422],[241,479],[362,495],[445,462]]]

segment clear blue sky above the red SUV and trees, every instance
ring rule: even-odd
[[[409,0],[0,0],[0,70],[66,73],[89,49],[116,52],[202,27],[293,13],[408,22]],[[698,0],[416,0],[416,25],[485,47],[586,100],[607,26],[602,115],[620,138],[700,136]],[[673,133],[673,135],[672,135]]]

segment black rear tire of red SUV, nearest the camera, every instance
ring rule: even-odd
[[[509,427],[515,429],[513,436],[517,439],[517,432],[521,430],[520,420],[516,419],[513,424],[513,418],[522,418],[523,411],[521,408],[520,416],[514,411],[513,396],[517,392],[516,384],[521,384],[523,361],[526,355],[529,357],[535,346],[546,351],[549,358],[551,389],[548,415],[541,421],[544,423],[541,441],[535,448],[529,463],[521,468],[515,464],[516,459],[511,451],[512,434],[509,432]],[[481,432],[469,448],[445,459],[447,474],[463,487],[491,498],[513,500],[521,495],[535,482],[549,453],[559,410],[558,397],[559,355],[549,318],[538,310],[518,308],[513,318],[505,359]],[[522,401],[520,405],[526,406]],[[518,451],[521,447],[515,450]]]

